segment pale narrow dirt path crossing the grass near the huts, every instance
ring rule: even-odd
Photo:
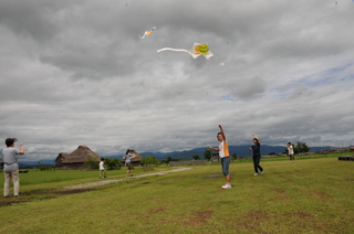
[[[191,168],[178,168],[178,169],[173,169],[169,171],[162,171],[162,172],[155,172],[155,173],[147,173],[147,174],[138,174],[138,176],[134,176],[134,177],[129,177],[129,178],[142,178],[142,177],[150,177],[150,176],[164,176],[170,172],[179,172],[179,171],[186,171],[189,170]],[[62,188],[62,190],[77,190],[77,189],[84,189],[84,188],[88,188],[88,187],[100,187],[100,185],[104,185],[107,183],[112,183],[112,182],[118,182],[118,181],[124,181],[126,179],[129,178],[122,178],[122,179],[116,179],[116,180],[100,180],[96,182],[88,182],[88,183],[80,183],[76,185],[72,185],[72,187],[64,187]]]

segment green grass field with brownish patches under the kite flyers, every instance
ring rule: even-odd
[[[231,163],[229,190],[219,163],[72,193],[53,190],[95,181],[97,171],[30,171],[20,174],[20,198],[0,199],[0,233],[354,233],[354,162],[261,166],[266,173],[253,177],[251,162]]]

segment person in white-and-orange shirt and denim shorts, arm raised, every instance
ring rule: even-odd
[[[217,135],[217,139],[220,141],[219,143],[219,148],[212,148],[209,147],[209,149],[211,151],[219,151],[219,156],[221,159],[221,169],[222,169],[222,173],[225,176],[225,180],[226,180],[226,184],[222,185],[222,189],[230,189],[231,188],[231,183],[230,183],[230,173],[229,173],[229,166],[230,166],[230,153],[229,153],[229,146],[228,142],[226,140],[226,136],[223,134],[223,129],[221,127],[221,125],[219,125],[220,128],[220,132]]]

